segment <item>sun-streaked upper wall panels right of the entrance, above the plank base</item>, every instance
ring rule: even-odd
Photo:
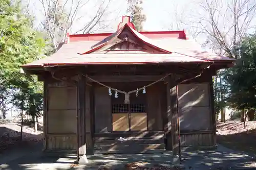
[[[210,129],[210,100],[207,83],[178,85],[181,130]]]

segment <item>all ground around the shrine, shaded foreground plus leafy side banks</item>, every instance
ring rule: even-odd
[[[78,166],[72,162],[75,158],[48,158],[40,155],[36,156],[33,153],[19,156],[17,159],[11,159],[9,162],[0,165],[0,169],[97,169],[107,170],[114,169],[112,167],[118,166],[117,169],[254,169],[256,168],[254,156],[248,156],[245,153],[256,154],[256,147],[254,143],[256,141],[256,122],[246,122],[247,129],[244,129],[243,123],[239,121],[228,121],[226,123],[218,124],[217,142],[221,143],[225,147],[232,149],[225,149],[221,145],[218,146],[216,152],[188,152],[182,153],[183,166],[182,168],[172,167],[171,153],[165,153],[165,155],[101,155],[88,156],[91,164],[87,166]],[[42,131],[38,128],[38,132],[34,132],[33,128],[24,126],[23,129],[23,144],[31,146],[31,143],[38,143],[42,139]],[[5,140],[3,144],[3,138],[8,133],[9,138]],[[20,147],[19,142],[20,124],[8,123],[0,124],[0,137],[2,142],[2,151]],[[6,144],[7,143],[7,144]],[[0,143],[1,146],[1,143]],[[25,147],[24,147],[25,148]],[[35,149],[38,147],[35,146]],[[224,149],[223,149],[224,148]],[[30,151],[32,150],[29,149]],[[235,150],[235,151],[233,151]],[[40,151],[40,150],[39,150]],[[238,151],[238,152],[237,152]],[[26,151],[28,152],[28,151]],[[38,152],[38,154],[41,152]],[[3,154],[4,155],[4,154]],[[6,155],[5,155],[6,156]],[[136,158],[137,156],[137,158]],[[128,159],[129,158],[129,159]],[[136,158],[136,159],[135,159]],[[56,159],[56,160],[55,160]],[[3,160],[2,160],[3,161]],[[1,159],[0,159],[1,162]],[[106,162],[102,164],[102,162]],[[1,164],[1,163],[0,163]],[[95,168],[93,168],[95,167]],[[121,167],[121,168],[120,168]],[[200,167],[200,168],[199,168]],[[116,168],[115,168],[116,169]]]

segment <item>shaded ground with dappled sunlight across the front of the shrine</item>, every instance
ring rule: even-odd
[[[180,167],[185,169],[256,169],[255,159],[241,153],[232,152],[224,147],[219,147],[217,152],[197,151],[183,152],[183,162]],[[89,163],[86,166],[75,165],[75,156],[70,157],[46,157],[42,154],[27,155],[0,166],[3,170],[24,169],[127,169],[125,164],[139,162],[138,165],[148,169],[150,167],[165,166],[172,169],[173,156],[171,152],[164,154],[116,154],[88,156]],[[159,168],[160,169],[160,168]]]

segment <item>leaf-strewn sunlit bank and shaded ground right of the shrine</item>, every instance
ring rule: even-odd
[[[217,143],[232,150],[256,154],[256,121],[244,123],[239,120],[229,120],[217,124]]]

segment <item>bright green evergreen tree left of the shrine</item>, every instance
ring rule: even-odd
[[[40,112],[34,106],[42,104],[42,84],[34,76],[21,74],[20,65],[44,56],[46,44],[31,23],[19,3],[0,1],[0,90],[14,91],[8,96],[13,105],[33,116]]]

